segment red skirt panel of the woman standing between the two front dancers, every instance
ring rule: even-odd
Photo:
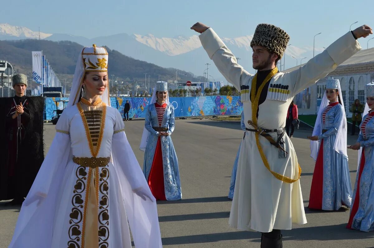
[[[151,171],[149,172],[148,176],[148,185],[156,200],[166,201],[160,137],[157,139]]]

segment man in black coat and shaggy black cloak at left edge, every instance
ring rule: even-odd
[[[0,200],[21,205],[44,160],[43,97],[27,97],[27,77],[12,78],[15,96],[1,98]]]

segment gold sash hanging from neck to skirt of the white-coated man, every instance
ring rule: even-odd
[[[267,75],[267,77],[265,78],[264,82],[262,82],[262,84],[260,85],[260,87],[258,88],[258,91],[257,91],[257,94],[256,94],[256,83],[257,83],[257,74],[253,77],[252,79],[252,86],[251,86],[251,101],[253,100],[252,102],[252,121],[255,125],[257,125],[257,108],[258,108],[258,101],[260,100],[260,95],[261,95],[261,91],[263,90],[265,84],[267,82],[270,81],[270,79],[272,79],[272,77],[278,72],[278,68],[274,68],[270,73],[269,75]],[[268,169],[270,171],[270,173],[273,174],[273,176],[275,176],[277,179],[283,181],[283,182],[286,182],[286,183],[293,183],[293,182],[296,182],[297,180],[300,179],[300,175],[301,175],[301,167],[300,167],[300,164],[298,164],[298,169],[299,169],[299,175],[298,175],[298,178],[297,179],[291,179],[291,178],[288,178],[286,176],[283,176],[279,173],[276,173],[274,171],[272,171],[270,169],[270,165],[269,165],[269,162],[267,161],[266,159],[266,156],[264,154],[264,151],[262,150],[261,148],[261,145],[260,145],[260,139],[258,138],[259,137],[259,134],[258,132],[255,133],[255,137],[256,137],[256,144],[257,144],[257,148],[258,148],[258,151],[260,152],[260,155],[261,155],[261,158],[262,158],[262,161],[266,167],[266,169]]]

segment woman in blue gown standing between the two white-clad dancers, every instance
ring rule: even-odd
[[[157,82],[156,88],[145,113],[143,173],[156,200],[181,200],[178,158],[171,140],[174,107],[168,101],[168,83]]]

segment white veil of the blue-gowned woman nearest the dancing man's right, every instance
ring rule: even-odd
[[[340,82],[338,82],[338,91],[339,91],[341,105],[343,106],[343,119],[339,125],[341,128],[338,129],[338,132],[336,135],[334,150],[337,151],[337,153],[347,156],[347,117],[346,117],[346,111],[344,109],[343,97],[341,97],[342,94],[341,94]],[[316,123],[313,129],[313,136],[322,134],[321,117],[322,117],[322,113],[324,112],[328,104],[329,104],[329,100],[327,99],[326,93],[325,93],[324,97],[322,98],[321,106],[319,106]],[[310,157],[312,157],[315,161],[317,160],[320,142],[321,141],[319,140],[310,141],[310,151],[311,151]]]

